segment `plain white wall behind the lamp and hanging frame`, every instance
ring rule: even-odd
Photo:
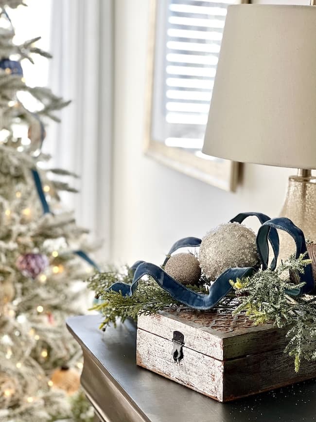
[[[276,217],[287,177],[295,173],[244,165],[237,192],[228,193],[143,155],[148,14],[149,0],[115,0],[111,258],[118,263],[143,259],[160,264],[177,239],[202,237],[242,211]]]

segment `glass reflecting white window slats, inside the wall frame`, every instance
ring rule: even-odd
[[[157,1],[152,135],[200,149],[227,7],[234,0]]]

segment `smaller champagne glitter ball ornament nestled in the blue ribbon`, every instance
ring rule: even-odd
[[[165,265],[165,272],[182,284],[197,284],[201,276],[199,261],[192,254],[176,254]]]

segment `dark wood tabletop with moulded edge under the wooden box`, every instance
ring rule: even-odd
[[[118,323],[103,333],[101,320],[89,315],[67,321],[84,353],[81,383],[100,421],[316,421],[315,380],[221,404],[138,367],[135,325]]]

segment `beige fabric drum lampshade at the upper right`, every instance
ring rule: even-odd
[[[316,6],[228,6],[203,152],[316,168]]]

